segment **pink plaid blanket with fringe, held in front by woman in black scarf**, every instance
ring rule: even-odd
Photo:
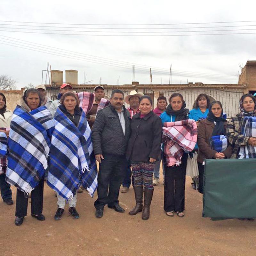
[[[191,152],[197,140],[197,126],[192,119],[164,123],[164,155],[168,166],[181,164],[183,152]]]

